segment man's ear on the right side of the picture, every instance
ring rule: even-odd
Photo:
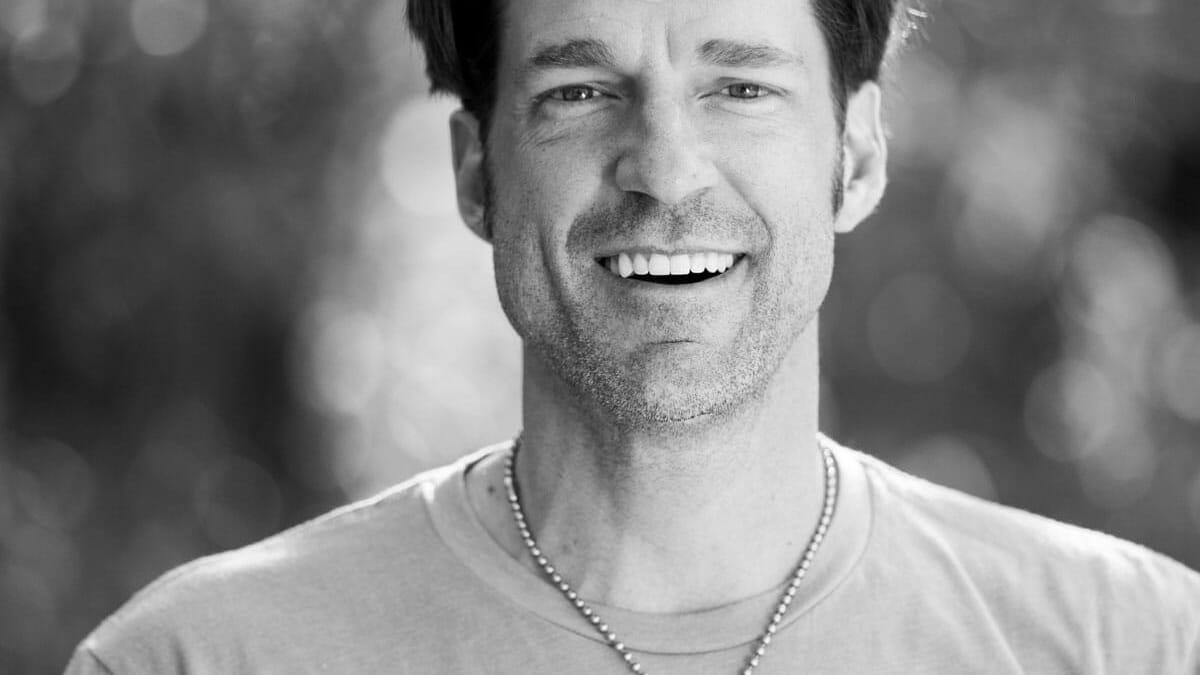
[[[834,222],[836,232],[850,232],[871,215],[888,184],[888,143],[883,136],[883,95],[868,82],[846,102],[842,131],[844,196]]]

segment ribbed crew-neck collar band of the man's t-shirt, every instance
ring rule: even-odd
[[[858,563],[870,538],[871,508],[866,477],[858,453],[829,438],[839,470],[839,495],[833,522],[780,629],[812,610]],[[476,577],[509,601],[578,635],[604,641],[558,589],[509,556],[476,518],[467,498],[466,474],[492,453],[508,452],[511,441],[484,448],[446,467],[428,485],[426,507],[438,534]],[[811,536],[805,532],[804,537]],[[752,551],[748,555],[754,555]],[[787,583],[750,598],[703,611],[646,614],[599,603],[588,604],[634,651],[661,655],[720,651],[757,640],[775,611]]]

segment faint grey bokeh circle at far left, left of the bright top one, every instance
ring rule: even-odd
[[[70,30],[48,26],[26,32],[12,46],[8,74],[20,96],[35,104],[62,96],[79,74],[79,38]]]

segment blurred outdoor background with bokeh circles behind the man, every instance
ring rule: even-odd
[[[823,428],[1200,567],[1200,4],[944,0]],[[517,429],[398,0],[0,0],[0,671]]]

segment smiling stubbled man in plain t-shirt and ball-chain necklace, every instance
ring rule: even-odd
[[[410,20],[520,438],[168,574],[70,673],[1200,671],[1196,574],[817,434],[889,0],[452,5]]]

